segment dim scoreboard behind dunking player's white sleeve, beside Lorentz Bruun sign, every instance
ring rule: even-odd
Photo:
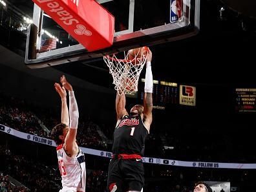
[[[140,99],[144,99],[144,82],[145,79],[141,79],[142,83],[139,83],[138,88]],[[178,104],[178,85],[177,83],[171,83],[167,81],[153,81],[153,107],[155,109],[165,109],[167,105]]]

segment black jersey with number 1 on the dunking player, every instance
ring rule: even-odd
[[[144,155],[145,138],[148,134],[140,115],[123,116],[121,122],[114,129],[114,154]]]

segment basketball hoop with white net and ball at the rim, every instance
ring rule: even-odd
[[[124,51],[124,59],[117,58],[120,54],[103,57],[107,67],[109,67],[109,73],[112,75],[114,89],[118,91],[118,94],[131,94],[138,91],[138,79],[148,53],[147,47],[141,47]]]

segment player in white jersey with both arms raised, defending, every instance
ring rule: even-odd
[[[57,156],[62,178],[62,189],[59,192],[85,192],[85,156],[76,144],[79,118],[78,104],[72,86],[65,76],[61,77],[61,84],[63,87],[59,83],[54,84],[61,97],[61,123],[51,131],[52,139],[58,145]],[[69,91],[69,110],[66,89]]]

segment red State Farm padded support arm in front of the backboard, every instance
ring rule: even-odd
[[[32,0],[87,50],[110,47],[114,16],[94,0]]]

